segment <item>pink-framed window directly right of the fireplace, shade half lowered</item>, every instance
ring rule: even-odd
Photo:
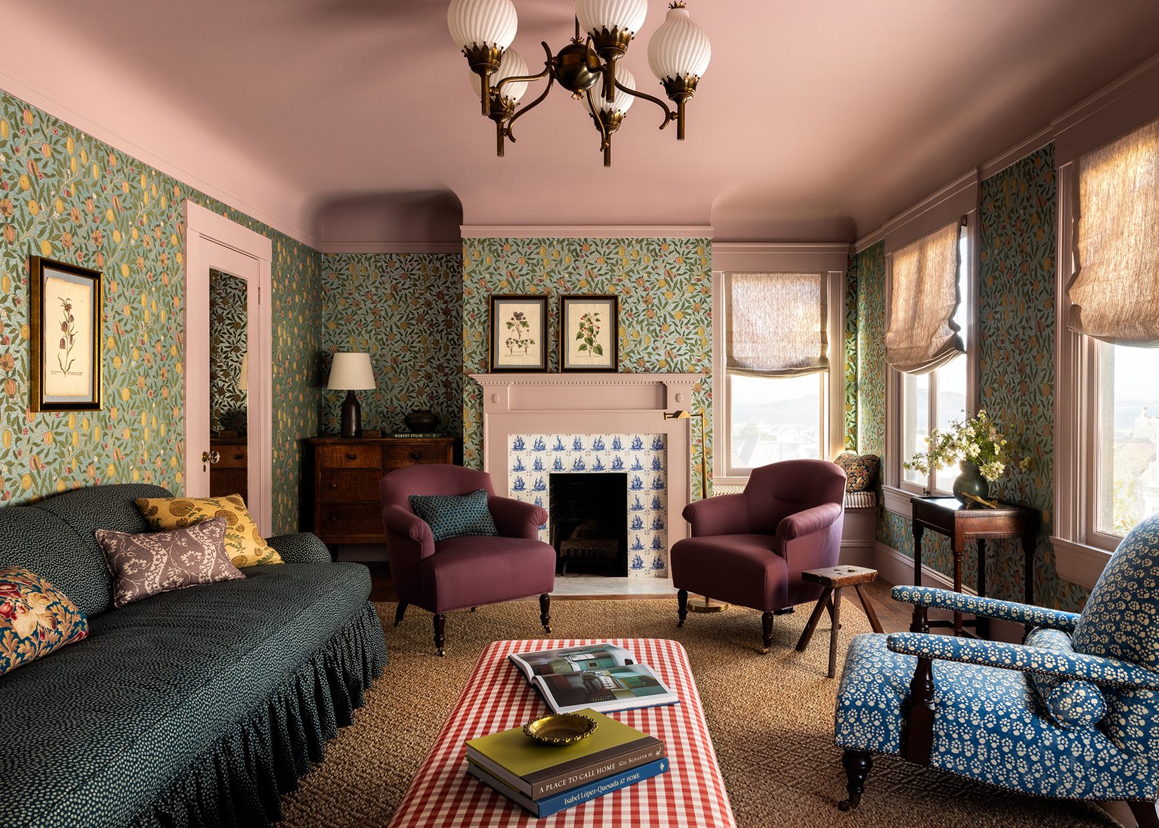
[[[834,262],[844,263],[847,249],[841,247],[837,252],[826,251],[826,254]],[[790,375],[770,376],[760,371],[746,371],[737,365],[737,360],[729,359],[732,352],[739,352],[743,361],[744,354],[752,352],[746,343],[736,342],[736,336],[742,335],[745,329],[753,329],[751,318],[738,320],[736,330],[729,330],[730,314],[726,294],[732,295],[730,293],[734,290],[732,278],[739,276],[768,279],[809,276],[818,283],[822,287],[822,303],[809,306],[809,310],[804,314],[794,312],[792,298],[777,299],[764,306],[777,308],[772,322],[778,327],[783,327],[788,318],[808,320],[811,334],[802,336],[800,342],[808,343],[804,345],[804,358],[801,361],[809,364],[800,369],[812,373],[792,375],[794,369],[788,368],[785,373]],[[841,296],[845,271],[815,273],[779,273],[772,269],[763,273],[717,271],[714,273],[714,279],[713,294],[716,302],[713,312],[714,375],[717,379],[713,389],[716,440],[713,481],[716,485],[743,485],[749,472],[760,466],[782,460],[834,457],[840,453],[844,441],[840,405],[833,401],[839,403],[843,398],[845,383],[845,374],[840,369],[844,353],[841,337],[845,308]],[[814,307],[816,312],[812,310]],[[759,330],[760,325],[756,328]],[[822,334],[821,339],[816,338],[818,332]],[[785,340],[792,338],[774,337],[773,342],[766,343],[766,347],[782,352],[788,350]],[[825,361],[836,359],[838,368],[818,369],[818,365],[824,365],[822,357]],[[777,358],[779,357],[774,357]]]

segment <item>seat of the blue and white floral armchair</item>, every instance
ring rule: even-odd
[[[901,752],[902,703],[917,659],[885,636],[850,644],[837,696],[833,741],[870,753]],[[1151,799],[1156,783],[1094,726],[1060,727],[1027,674],[934,661],[931,767],[1025,793],[1067,799]],[[1114,710],[1114,698],[1108,698]]]

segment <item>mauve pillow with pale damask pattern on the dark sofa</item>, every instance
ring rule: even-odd
[[[112,604],[124,607],[159,592],[245,578],[229,563],[225,518],[173,532],[96,530],[96,542],[112,570]]]

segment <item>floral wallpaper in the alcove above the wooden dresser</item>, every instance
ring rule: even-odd
[[[462,432],[461,298],[458,254],[322,257],[322,349],[369,352],[374,366],[378,389],[358,393],[363,428],[407,431],[404,416],[430,409],[440,432]],[[340,432],[344,398],[322,391],[323,432]]]

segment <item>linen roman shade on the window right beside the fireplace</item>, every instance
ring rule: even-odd
[[[826,273],[726,273],[726,372],[802,376],[829,371],[826,278]]]

